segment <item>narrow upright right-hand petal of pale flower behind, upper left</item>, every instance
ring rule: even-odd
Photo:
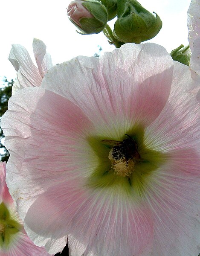
[[[53,67],[51,56],[46,52],[46,45],[43,41],[36,38],[33,39],[33,52],[39,73],[43,78],[49,68]]]

